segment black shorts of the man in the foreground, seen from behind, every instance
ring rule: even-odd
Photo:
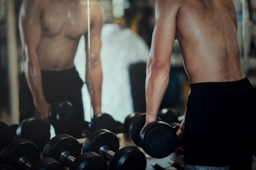
[[[256,97],[249,80],[195,83],[190,87],[184,168],[252,170]]]

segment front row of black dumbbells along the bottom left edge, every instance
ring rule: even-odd
[[[81,154],[82,151],[82,154]],[[146,157],[134,146],[119,149],[119,139],[107,129],[98,129],[86,139],[81,149],[77,139],[59,134],[40,149],[24,138],[9,142],[0,154],[5,170],[145,170]],[[110,160],[109,163],[107,160]]]

